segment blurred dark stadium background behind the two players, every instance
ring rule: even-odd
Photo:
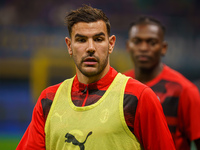
[[[200,78],[200,1],[1,0],[0,149],[15,149],[41,91],[74,75],[64,42],[64,17],[83,3],[109,17],[111,33],[117,36],[111,65],[119,72],[132,68],[125,51],[129,24],[146,14],[167,27],[169,49],[163,61],[191,81]]]

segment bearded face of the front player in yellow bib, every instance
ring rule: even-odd
[[[104,21],[79,22],[73,25],[71,39],[66,38],[68,52],[76,64],[78,77],[101,78],[109,68],[115,36],[109,37]]]

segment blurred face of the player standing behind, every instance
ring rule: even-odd
[[[127,51],[136,68],[149,70],[159,65],[167,49],[163,36],[155,24],[138,24],[130,29]]]

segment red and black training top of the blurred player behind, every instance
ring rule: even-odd
[[[124,73],[135,78],[133,70]],[[200,138],[200,98],[197,87],[183,75],[164,65],[162,72],[145,83],[159,97],[177,150],[189,150]]]

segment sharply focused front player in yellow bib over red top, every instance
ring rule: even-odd
[[[148,86],[110,66],[116,37],[99,9],[66,17],[76,75],[45,89],[17,150],[173,150],[162,106]]]

